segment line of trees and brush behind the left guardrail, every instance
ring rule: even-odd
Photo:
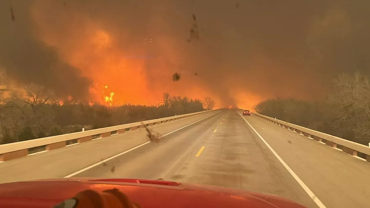
[[[206,97],[190,99],[164,93],[156,106],[99,103],[55,99],[52,91],[30,84],[18,91],[0,85],[0,144],[72,132],[134,123],[174,115],[212,110],[214,101]]]

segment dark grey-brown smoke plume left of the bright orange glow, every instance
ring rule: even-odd
[[[38,38],[31,17],[32,3],[0,2],[0,66],[8,77],[20,83],[43,85],[62,98],[68,95],[87,98],[92,81],[81,76],[78,68],[65,63],[55,48]]]

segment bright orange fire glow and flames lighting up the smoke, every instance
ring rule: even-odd
[[[143,37],[142,43],[132,42],[128,37],[137,34],[129,29],[105,27],[84,13],[76,12],[74,7],[53,10],[53,18],[48,18],[49,8],[59,8],[59,4],[36,1],[32,8],[33,20],[39,29],[40,39],[56,48],[64,61],[79,68],[82,76],[94,81],[90,89],[94,96],[91,101],[109,106],[123,103],[157,105],[163,93],[169,93],[200,99],[210,96],[216,106],[222,103],[223,100],[203,83],[201,77],[207,75],[182,73],[181,80],[172,81],[172,74],[181,73],[177,70],[184,67],[181,63],[186,58],[168,33],[157,34],[155,38],[147,37],[147,40]],[[78,21],[74,21],[76,19]],[[151,21],[152,28],[148,31],[168,29],[160,18]],[[155,54],[160,54],[158,57],[151,57],[152,48],[155,48]],[[148,59],[145,58],[147,56]],[[238,94],[233,96],[238,104],[248,105],[251,102],[250,96],[235,94]]]

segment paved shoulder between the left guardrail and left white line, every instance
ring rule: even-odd
[[[192,117],[154,125],[149,128],[164,135],[203,118],[217,115],[218,113],[222,113],[222,111],[210,111]],[[0,183],[62,178],[89,165],[96,164],[113,155],[148,142],[146,135],[147,132],[144,129],[138,129],[57,150],[0,162]]]

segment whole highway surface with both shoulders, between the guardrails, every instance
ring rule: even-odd
[[[2,162],[0,183],[163,178],[275,194],[308,208],[370,207],[369,163],[240,113],[211,111],[152,126],[165,135],[158,143],[139,129]]]

